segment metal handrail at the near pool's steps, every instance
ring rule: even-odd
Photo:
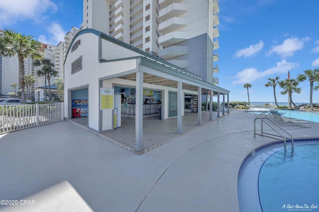
[[[260,119],[261,120],[261,134],[258,134],[256,133],[256,120],[257,119]],[[256,135],[260,135],[260,136],[265,136],[265,137],[269,137],[269,138],[274,138],[274,139],[277,139],[277,140],[280,140],[278,139],[278,137],[281,137],[284,139],[284,148],[285,148],[285,152],[287,152],[287,145],[286,145],[286,137],[278,132],[274,127],[272,127],[266,120],[264,119],[269,119],[272,123],[276,124],[281,130],[283,130],[284,132],[286,132],[290,138],[291,138],[291,148],[292,150],[294,151],[294,137],[289,133],[287,132],[284,128],[282,128],[281,126],[279,126],[276,122],[274,122],[272,119],[268,118],[268,117],[257,117],[254,119],[254,137],[256,137]],[[267,133],[267,132],[264,132],[263,130],[263,122],[266,123],[270,128],[272,128],[273,130],[275,130],[275,132],[277,132],[279,135],[275,135],[275,134],[271,134],[271,133]],[[264,135],[264,134],[267,134],[267,135]],[[269,135],[272,135],[272,136],[276,136],[276,137],[272,137],[272,136],[269,136]]]

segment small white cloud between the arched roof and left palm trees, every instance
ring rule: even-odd
[[[40,35],[38,41],[45,44],[57,45],[60,41],[64,40],[64,35],[66,32],[62,29],[61,25],[58,23],[52,23],[48,28],[50,37],[47,38],[44,35]]]

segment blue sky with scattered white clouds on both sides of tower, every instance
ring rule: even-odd
[[[0,29],[12,29],[51,45],[82,24],[82,0],[0,0]],[[318,0],[219,0],[219,87],[230,101],[274,102],[268,78],[296,78],[319,68]],[[315,83],[317,85],[318,83]],[[299,84],[295,103],[310,102],[310,83]],[[278,102],[287,95],[276,87]],[[319,91],[313,93],[319,103]]]

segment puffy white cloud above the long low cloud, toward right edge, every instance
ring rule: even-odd
[[[298,37],[291,37],[284,40],[283,44],[274,46],[266,55],[276,53],[283,58],[291,57],[298,50],[304,48],[304,43],[311,40],[310,37],[299,39]]]

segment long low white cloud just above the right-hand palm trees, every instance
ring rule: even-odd
[[[288,70],[291,70],[298,66],[299,66],[298,63],[290,63],[290,62],[287,62],[286,60],[282,60],[278,62],[276,66],[262,72],[259,72],[255,68],[246,68],[243,71],[240,71],[236,74],[235,78],[237,80],[233,81],[231,84],[237,85],[237,84],[251,83],[259,78],[263,78],[272,74],[287,73]]]

